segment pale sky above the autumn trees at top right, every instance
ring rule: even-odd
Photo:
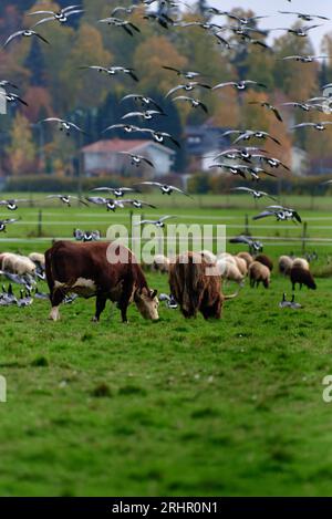
[[[194,3],[195,0],[185,1],[186,3]],[[314,44],[317,52],[320,52],[322,37],[326,32],[332,32],[332,0],[292,0],[291,2],[287,0],[208,0],[208,4],[222,11],[229,11],[234,8],[240,7],[243,9],[251,9],[256,14],[270,15],[271,18],[260,21],[259,27],[262,29],[291,27],[297,20],[295,15],[279,14],[278,11],[299,11],[331,18],[330,21],[320,20],[318,22],[309,23],[323,24],[322,27],[310,31],[310,39]],[[272,31],[270,38],[273,39],[280,34],[282,34],[282,31]]]

